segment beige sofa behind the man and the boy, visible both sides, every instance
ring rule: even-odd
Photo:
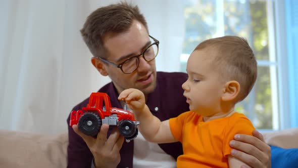
[[[263,133],[269,145],[298,148],[298,128]],[[0,167],[66,167],[67,133],[41,135],[0,130]]]

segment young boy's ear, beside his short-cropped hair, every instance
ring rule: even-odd
[[[226,82],[226,85],[223,89],[223,95],[221,99],[223,101],[232,101],[234,100],[240,92],[240,84],[239,82],[232,80]]]

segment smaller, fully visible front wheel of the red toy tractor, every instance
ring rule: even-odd
[[[136,125],[129,119],[121,120],[118,123],[118,130],[123,137],[132,137],[136,132]]]

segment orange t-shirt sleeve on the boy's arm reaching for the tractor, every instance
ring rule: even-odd
[[[188,116],[189,112],[190,111],[184,112],[175,118],[170,118],[170,120],[169,120],[172,135],[174,136],[174,138],[176,140],[178,140],[180,142],[182,142],[183,126],[184,126],[185,119]]]

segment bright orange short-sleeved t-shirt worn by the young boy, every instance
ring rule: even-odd
[[[188,111],[171,118],[173,136],[182,143],[183,154],[177,158],[177,167],[229,167],[229,142],[235,134],[252,135],[252,122],[240,113],[203,121],[203,116]]]

